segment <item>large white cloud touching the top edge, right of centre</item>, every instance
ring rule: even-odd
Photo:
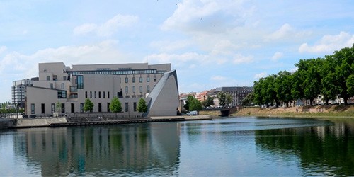
[[[162,30],[184,32],[207,31],[222,33],[228,28],[244,24],[248,11],[242,8],[244,1],[191,0],[178,4],[173,15],[161,25]],[[188,15],[186,15],[188,14]]]

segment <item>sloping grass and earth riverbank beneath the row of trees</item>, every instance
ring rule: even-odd
[[[316,105],[290,108],[243,108],[234,116],[354,118],[354,105]]]

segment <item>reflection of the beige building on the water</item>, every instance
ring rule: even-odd
[[[176,123],[35,128],[18,132],[25,136],[15,143],[17,154],[40,164],[42,176],[151,176],[154,169],[171,176],[178,169],[181,130]]]

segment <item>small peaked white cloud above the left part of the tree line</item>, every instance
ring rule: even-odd
[[[304,38],[306,36],[311,35],[309,31],[297,31],[294,28],[292,28],[291,25],[288,23],[285,23],[280,27],[279,30],[276,30],[274,33],[271,33],[270,35],[265,37],[266,41],[269,40],[282,40],[282,39],[296,39],[298,40],[299,38]]]

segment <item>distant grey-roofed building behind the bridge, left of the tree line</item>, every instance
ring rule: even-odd
[[[230,106],[239,106],[242,103],[242,100],[246,98],[246,96],[253,91],[253,87],[251,86],[224,86],[217,87],[216,89],[212,89],[207,94],[208,96],[214,98],[214,106],[219,106],[219,100],[217,99],[217,93],[224,92],[232,95],[232,103]]]

